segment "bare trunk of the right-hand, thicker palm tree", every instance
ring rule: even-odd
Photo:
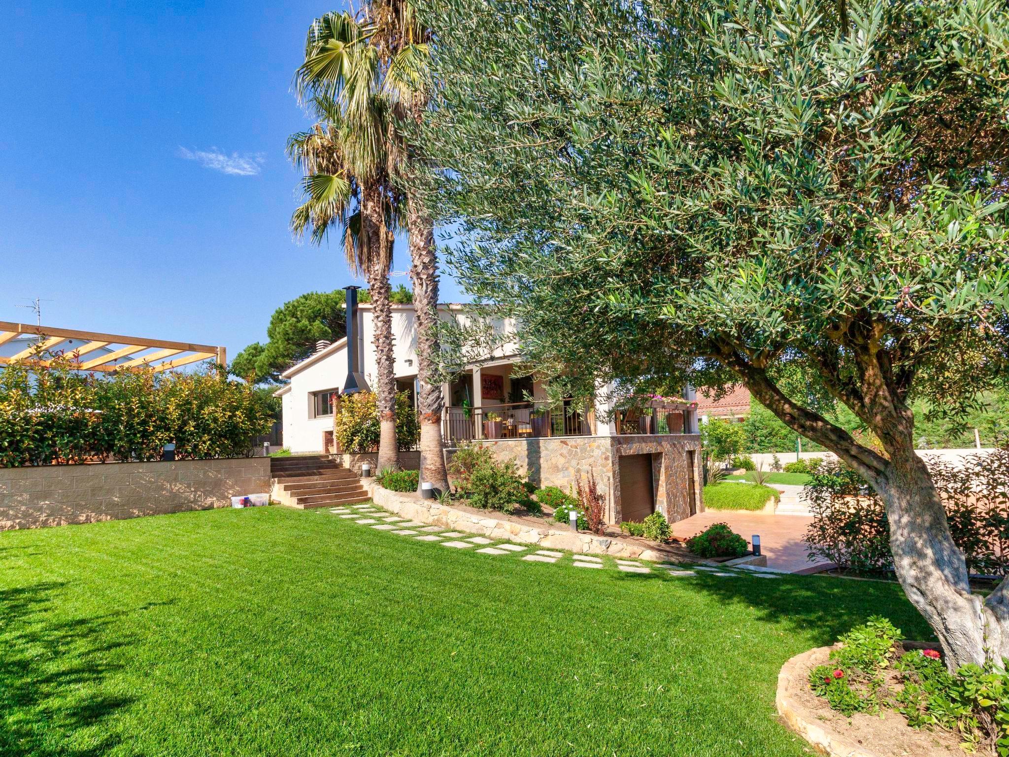
[[[407,198],[407,228],[410,232],[410,278],[414,283],[417,311],[418,409],[421,425],[421,475],[418,485],[430,481],[436,490],[448,491],[448,472],[442,444],[444,400],[435,361],[438,342],[438,257],[434,228],[414,196]]]

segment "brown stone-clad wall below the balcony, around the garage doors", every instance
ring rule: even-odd
[[[670,523],[690,516],[688,452],[693,452],[694,512],[704,510],[701,495],[699,434],[564,436],[496,439],[482,442],[501,461],[513,460],[519,472],[538,486],[573,492],[579,476],[590,471],[606,500],[607,523],[620,523],[621,455],[651,454],[655,509]],[[451,460],[454,450],[447,450]]]

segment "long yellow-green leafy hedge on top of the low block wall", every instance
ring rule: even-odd
[[[0,370],[0,467],[241,457],[269,431],[270,403],[210,369],[95,374],[61,355]]]

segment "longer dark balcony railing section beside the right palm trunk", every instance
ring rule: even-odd
[[[519,402],[481,408],[447,407],[442,437],[448,446],[482,439],[530,439],[551,436],[591,436],[595,413],[574,407],[551,409],[546,403]]]

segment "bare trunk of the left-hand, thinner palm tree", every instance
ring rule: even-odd
[[[398,470],[400,453],[396,440],[396,366],[393,357],[393,311],[389,306],[388,268],[391,234],[385,228],[377,192],[363,193],[361,216],[366,225],[369,265],[365,272],[371,294],[371,320],[377,373],[373,388],[378,405],[378,470]]]

